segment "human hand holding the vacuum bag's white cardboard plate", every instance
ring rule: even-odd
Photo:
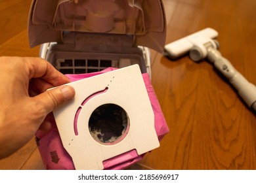
[[[68,82],[44,59],[0,57],[0,159],[47,128],[47,114],[75,95],[71,86],[59,86]]]

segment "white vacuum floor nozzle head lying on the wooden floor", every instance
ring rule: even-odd
[[[202,52],[202,57],[205,58],[207,55],[207,50],[203,44],[212,42],[213,45],[217,46],[212,40],[217,36],[217,31],[211,28],[206,28],[182,39],[166,44],[165,52],[167,52],[171,58],[176,59],[188,53],[193,47],[196,46],[197,49]]]

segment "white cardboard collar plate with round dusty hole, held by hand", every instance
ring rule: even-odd
[[[139,65],[132,65],[69,84],[75,89],[72,103],[54,110],[64,148],[75,169],[103,169],[102,162],[130,150],[144,154],[160,146],[154,128],[154,112]],[[102,144],[89,130],[96,108],[112,104],[123,108],[129,127],[124,137]]]

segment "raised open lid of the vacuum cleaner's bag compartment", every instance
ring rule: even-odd
[[[161,0],[33,0],[28,31],[32,47],[77,31],[131,35],[135,45],[162,52],[165,12]]]

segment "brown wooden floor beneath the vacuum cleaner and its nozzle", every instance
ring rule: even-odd
[[[163,2],[166,43],[212,27],[223,56],[256,84],[256,1]],[[0,56],[38,56],[39,48],[28,46],[30,3],[0,1]],[[170,131],[131,169],[256,169],[255,112],[211,63],[170,61],[152,51],[152,84]],[[34,139],[0,160],[0,169],[45,169]]]

